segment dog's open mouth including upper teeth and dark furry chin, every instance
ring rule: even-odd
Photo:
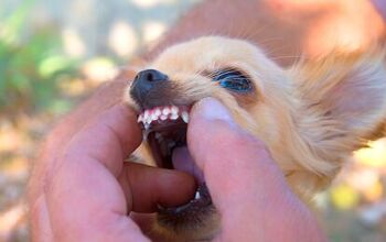
[[[158,231],[174,240],[207,240],[218,228],[218,215],[212,204],[202,172],[186,146],[191,106],[153,107],[142,110],[138,122],[157,166],[191,174],[197,183],[194,198],[175,208],[159,206]]]

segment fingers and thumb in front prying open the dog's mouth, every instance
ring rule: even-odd
[[[216,111],[210,111],[213,108]],[[269,224],[265,234],[272,240],[280,228],[285,234],[279,235],[286,241],[321,241],[317,222],[289,190],[268,153],[226,113],[213,99],[199,102],[187,129],[191,157],[186,151],[175,154],[193,158],[203,170],[222,215],[221,237],[256,241],[260,239],[256,228]],[[152,212],[159,202],[173,207],[192,198],[195,180],[191,175],[122,163],[140,136],[132,112],[122,107],[110,109],[74,136],[32,211],[34,216],[34,211],[50,211],[39,217],[45,237],[61,241],[148,241],[127,215]],[[222,142],[213,143],[216,141]]]

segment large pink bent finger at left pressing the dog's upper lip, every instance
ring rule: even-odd
[[[71,142],[45,183],[55,241],[146,241],[117,177],[140,142],[132,111],[114,107]]]

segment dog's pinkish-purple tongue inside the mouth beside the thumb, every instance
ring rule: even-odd
[[[195,165],[186,146],[176,147],[173,150],[172,162],[174,169],[191,174],[195,177],[199,184],[204,183],[204,174]]]

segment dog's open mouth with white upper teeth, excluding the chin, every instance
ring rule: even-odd
[[[161,208],[160,213],[183,216],[212,205],[202,172],[186,145],[191,106],[164,106],[143,110],[138,116],[157,166],[191,174],[199,185],[194,198],[176,208]]]

